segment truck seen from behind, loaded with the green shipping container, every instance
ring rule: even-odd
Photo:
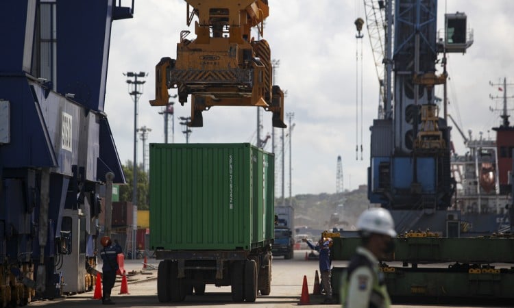
[[[271,292],[274,159],[248,143],[150,144],[150,246],[158,300],[231,286],[232,300]]]

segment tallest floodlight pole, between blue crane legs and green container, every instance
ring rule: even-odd
[[[137,181],[138,181],[138,172],[137,172],[137,158],[138,158],[138,151],[137,151],[137,127],[138,127],[138,99],[141,97],[141,94],[143,92],[138,91],[138,86],[143,88],[143,84],[145,84],[146,81],[144,80],[138,80],[138,77],[143,78],[145,77],[145,72],[127,72],[123,73],[124,76],[127,76],[132,79],[127,79],[127,84],[129,86],[129,94],[134,101],[134,164],[132,166],[132,173],[133,175],[133,183],[132,183],[132,259],[136,258],[136,230],[137,230],[137,224],[138,224],[138,209],[137,209],[137,203],[138,203],[138,192],[137,192]]]

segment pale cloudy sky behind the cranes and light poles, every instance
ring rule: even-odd
[[[126,1],[126,0],[125,0]],[[336,160],[343,157],[345,189],[367,183],[369,126],[377,116],[378,78],[367,31],[363,39],[363,160],[356,160],[356,29],[354,20],[365,18],[361,0],[269,0],[270,16],[264,38],[271,57],[280,60],[276,84],[287,90],[285,112],[294,112],[292,133],[292,190],[295,194],[335,192]],[[127,71],[148,73],[138,108],[138,127],[149,127],[148,142],[164,142],[164,119],[154,99],[155,64],[161,57],[175,58],[180,31],[186,27],[183,0],[136,0],[134,18],[112,25],[106,95],[106,113],[121,161],[133,157],[134,103],[128,94]],[[439,1],[438,23],[443,29],[445,12],[465,12],[474,30],[474,44],[465,55],[450,54],[449,112],[464,131],[488,136],[499,123],[489,107],[501,107],[489,94],[502,94],[489,86],[500,78],[514,83],[514,1]],[[189,29],[194,37],[194,30]],[[509,88],[514,93],[514,86]],[[170,90],[170,94],[175,94]],[[436,89],[442,97],[442,88]],[[510,105],[512,107],[513,104]],[[191,105],[175,107],[175,116],[189,116]],[[264,115],[262,134],[271,133],[271,114]],[[360,119],[360,116],[359,116]],[[185,142],[175,118],[175,142]],[[171,140],[171,124],[169,129]],[[491,130],[491,137],[493,137]],[[276,143],[281,131],[276,129]],[[456,129],[452,139],[464,153],[463,139]],[[286,136],[289,142],[289,136]],[[190,142],[256,142],[255,107],[213,107],[204,112],[204,127],[193,128]],[[357,142],[360,146],[360,137]],[[271,151],[271,140],[267,151]],[[142,161],[138,141],[138,162]],[[280,162],[280,147],[276,149]],[[289,146],[286,146],[286,196],[289,196]],[[280,165],[280,164],[278,164]],[[280,173],[280,166],[278,171]],[[280,190],[280,177],[278,179]]]

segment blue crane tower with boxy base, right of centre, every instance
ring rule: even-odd
[[[395,0],[394,8],[393,1],[386,1],[384,9],[386,16],[393,16],[394,9],[394,21],[392,17],[387,21],[389,34],[394,25],[394,38],[386,38],[389,45],[384,59],[394,75],[389,81],[393,101],[385,101],[384,109],[394,112],[386,112],[371,127],[369,201],[391,210],[397,231],[411,229],[425,214],[428,225],[443,229],[447,218],[440,219],[439,214],[448,214],[444,210],[450,206],[454,184],[450,127],[437,116],[432,93],[435,84],[445,80],[445,75],[435,75],[437,0]],[[387,58],[391,51],[392,57]],[[453,214],[458,219],[458,213]]]

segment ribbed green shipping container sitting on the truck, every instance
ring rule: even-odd
[[[273,239],[273,154],[244,144],[150,144],[150,246],[262,248]]]

